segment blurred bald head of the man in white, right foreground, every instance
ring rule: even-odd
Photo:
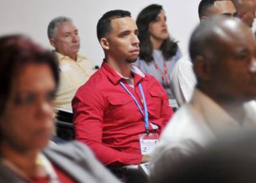
[[[198,87],[226,98],[256,97],[256,43],[241,20],[214,16],[193,32],[189,54]]]

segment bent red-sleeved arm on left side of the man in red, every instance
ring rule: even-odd
[[[92,93],[92,91],[86,93]],[[120,152],[102,143],[103,115],[106,105],[103,97],[94,92],[93,95],[83,95],[83,101],[78,97],[72,100],[76,139],[92,148],[96,157],[104,165],[140,164],[143,155]]]

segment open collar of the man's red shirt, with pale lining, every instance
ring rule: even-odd
[[[121,79],[125,79],[124,76],[117,73],[113,68],[111,68],[106,61],[103,60],[101,68],[104,70],[104,73],[108,76],[110,81],[114,84],[119,84]],[[134,75],[134,85],[140,82],[145,78],[145,74],[135,65],[131,65],[131,72]]]

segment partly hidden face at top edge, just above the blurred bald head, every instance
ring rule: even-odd
[[[236,16],[236,8],[232,1],[215,1],[210,12],[211,15],[228,15],[231,17]]]

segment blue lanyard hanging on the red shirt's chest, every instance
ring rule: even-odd
[[[132,95],[132,93],[126,88],[126,86],[124,85],[124,83],[122,81],[120,81],[120,84],[121,86],[123,86],[124,90],[132,97],[132,99],[134,100],[136,106],[138,106],[139,110],[140,110],[140,113],[141,115],[143,115],[143,118],[144,118],[144,123],[145,123],[145,129],[146,129],[146,132],[147,134],[149,134],[149,127],[148,127],[148,108],[147,108],[147,102],[146,102],[146,99],[145,99],[145,95],[144,95],[144,92],[143,92],[143,88],[141,86],[141,83],[139,83],[139,88],[140,88],[140,93],[141,93],[141,96],[142,96],[142,99],[143,99],[143,106],[144,106],[144,113],[140,107],[140,104],[139,102],[136,100],[136,98]]]

